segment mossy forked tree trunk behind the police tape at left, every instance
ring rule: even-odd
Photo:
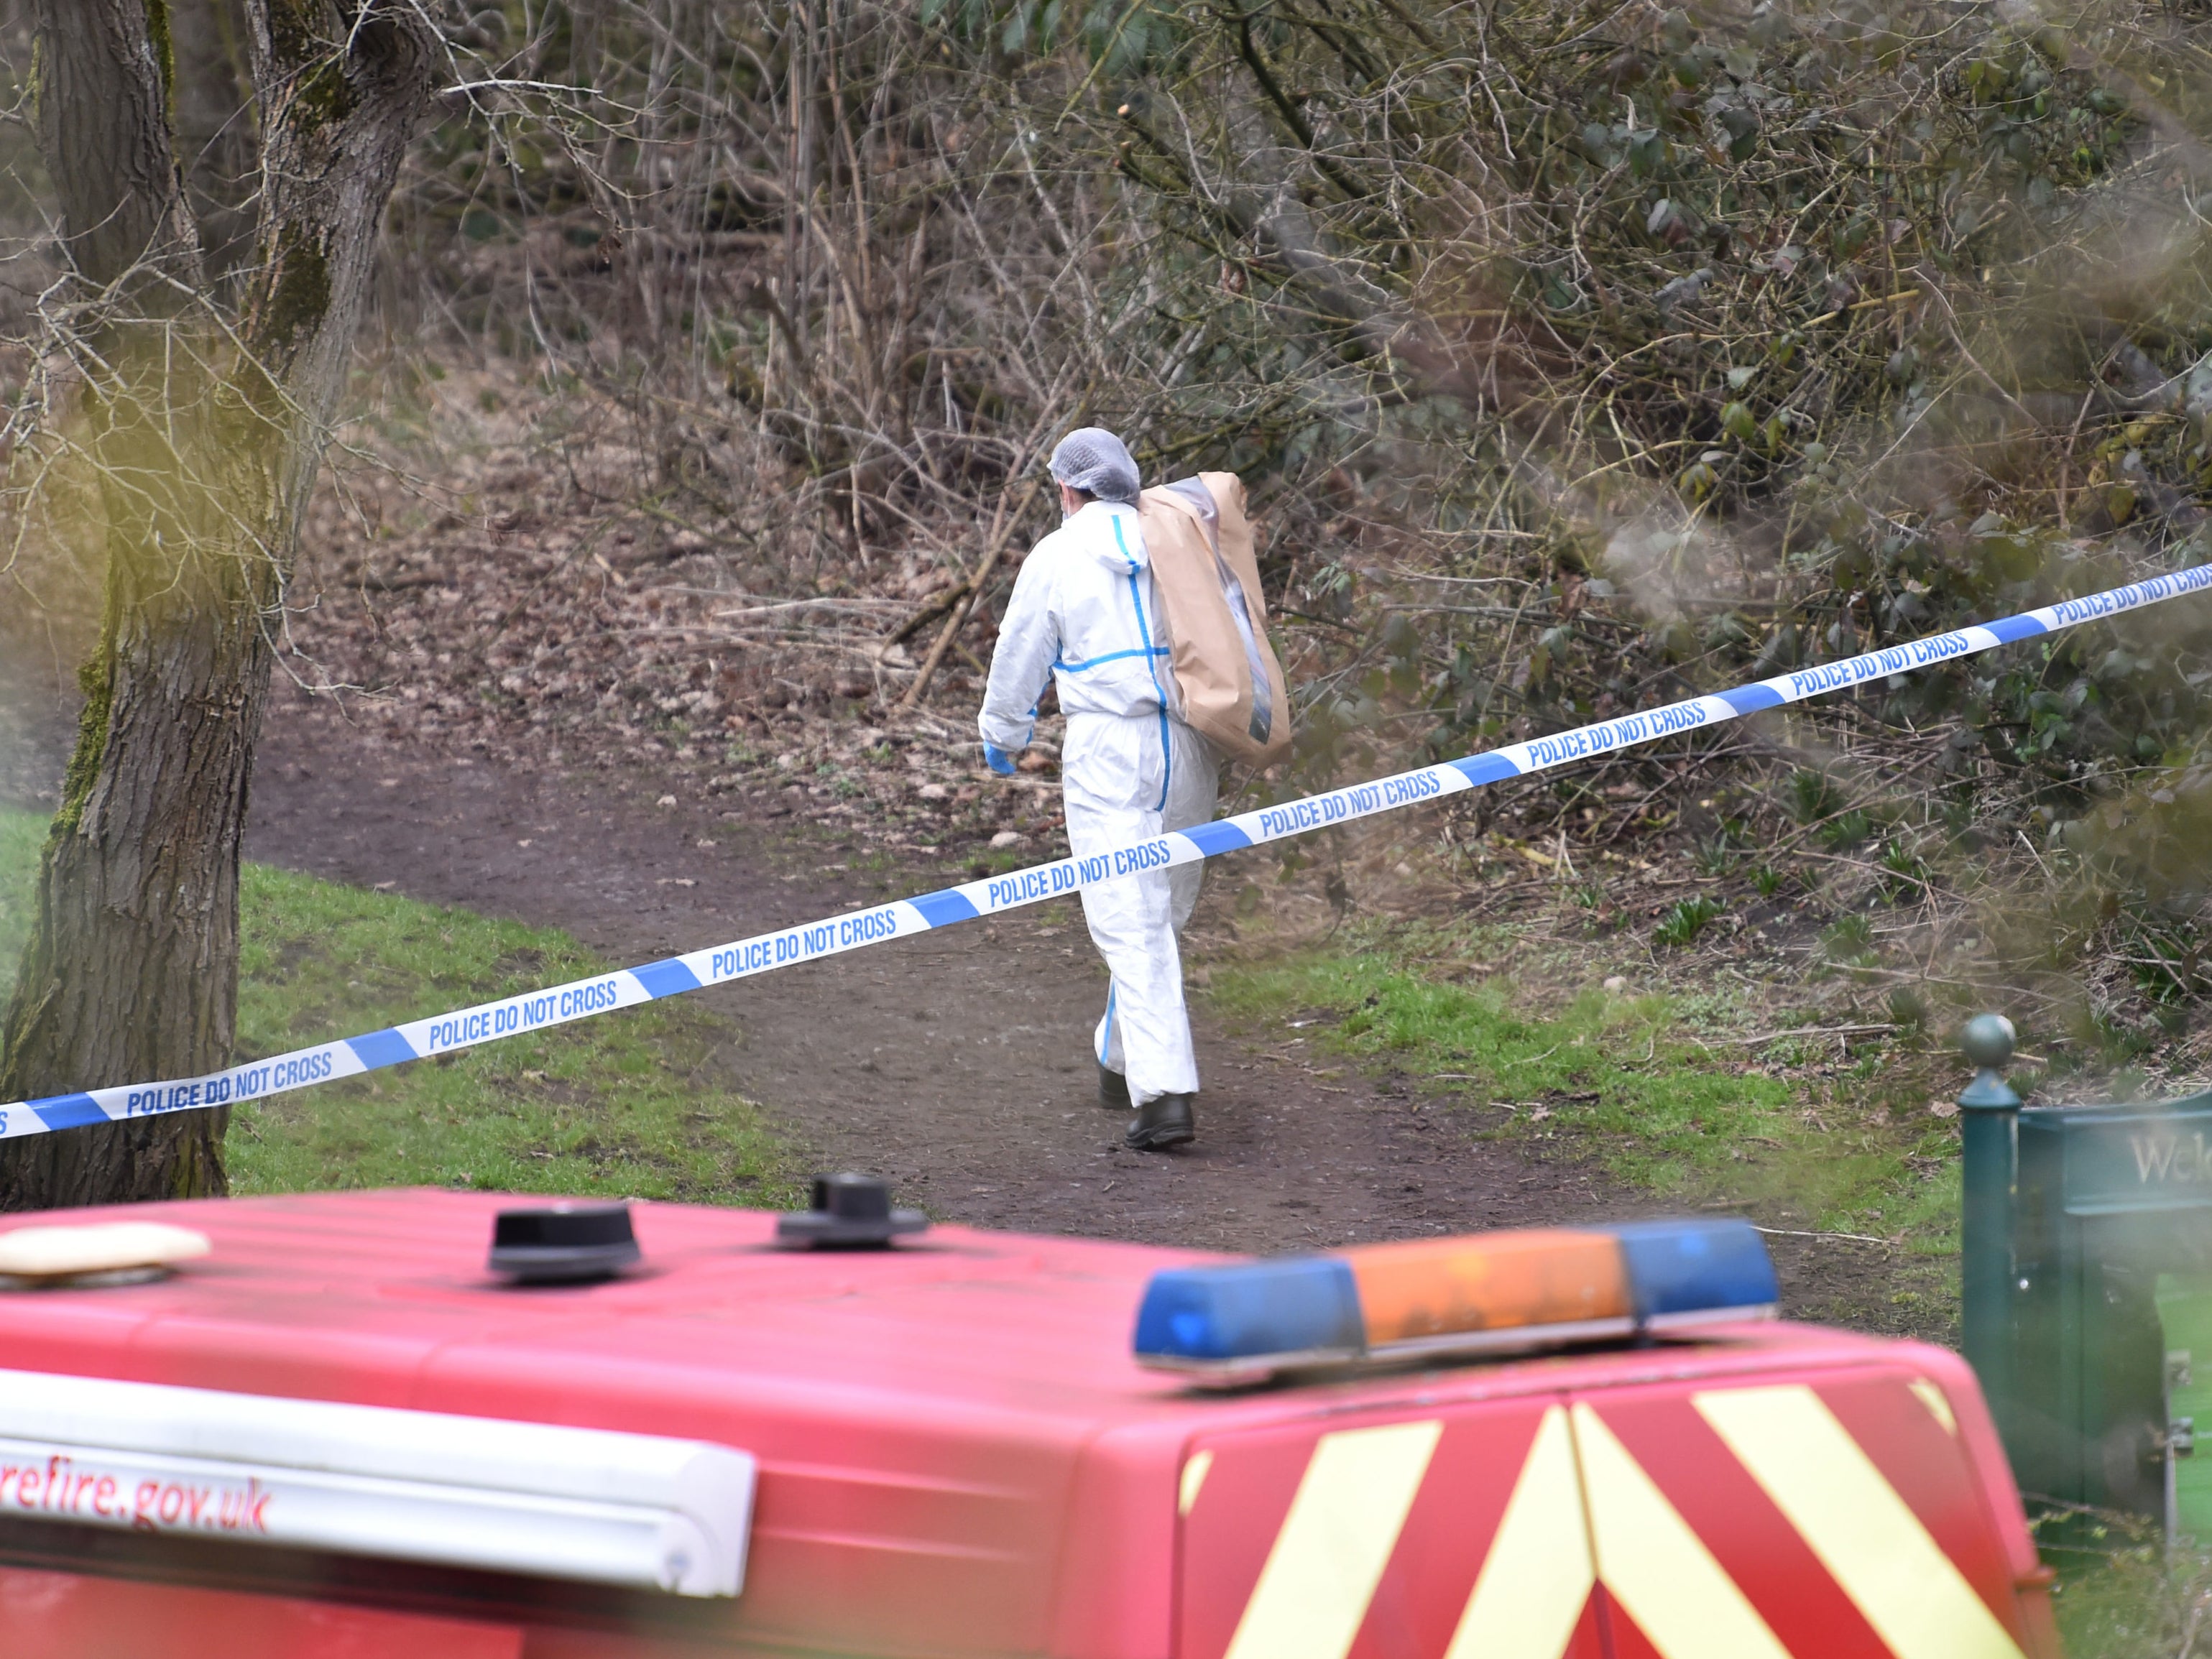
[[[40,135],[97,321],[73,341],[108,577],[0,1026],[0,1099],[195,1077],[237,1037],[239,845],[347,347],[436,38],[407,0],[248,0],[261,201],[243,316],[206,290],[144,0],[42,0]],[[0,1208],[221,1192],[223,1113],[0,1144]]]

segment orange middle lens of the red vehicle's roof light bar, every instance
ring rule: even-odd
[[[1610,1232],[1493,1232],[1338,1252],[1360,1287],[1367,1345],[1626,1318],[1635,1312]]]

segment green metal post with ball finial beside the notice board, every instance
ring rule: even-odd
[[[2013,1402],[2013,1175],[2020,1095],[2000,1075],[2013,1057],[2013,1022],[1978,1013],[1960,1033],[1975,1066],[1958,1097],[1962,1130],[1960,1347],[2004,1431]]]

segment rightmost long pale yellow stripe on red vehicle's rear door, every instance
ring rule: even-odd
[[[1717,1389],[1690,1402],[1790,1517],[1898,1659],[2020,1659],[2020,1646],[1818,1394]]]

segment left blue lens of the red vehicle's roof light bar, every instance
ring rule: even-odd
[[[1214,1369],[1267,1356],[1352,1358],[1367,1345],[1352,1265],[1329,1256],[1168,1267],[1137,1310],[1137,1354],[1148,1365]]]

